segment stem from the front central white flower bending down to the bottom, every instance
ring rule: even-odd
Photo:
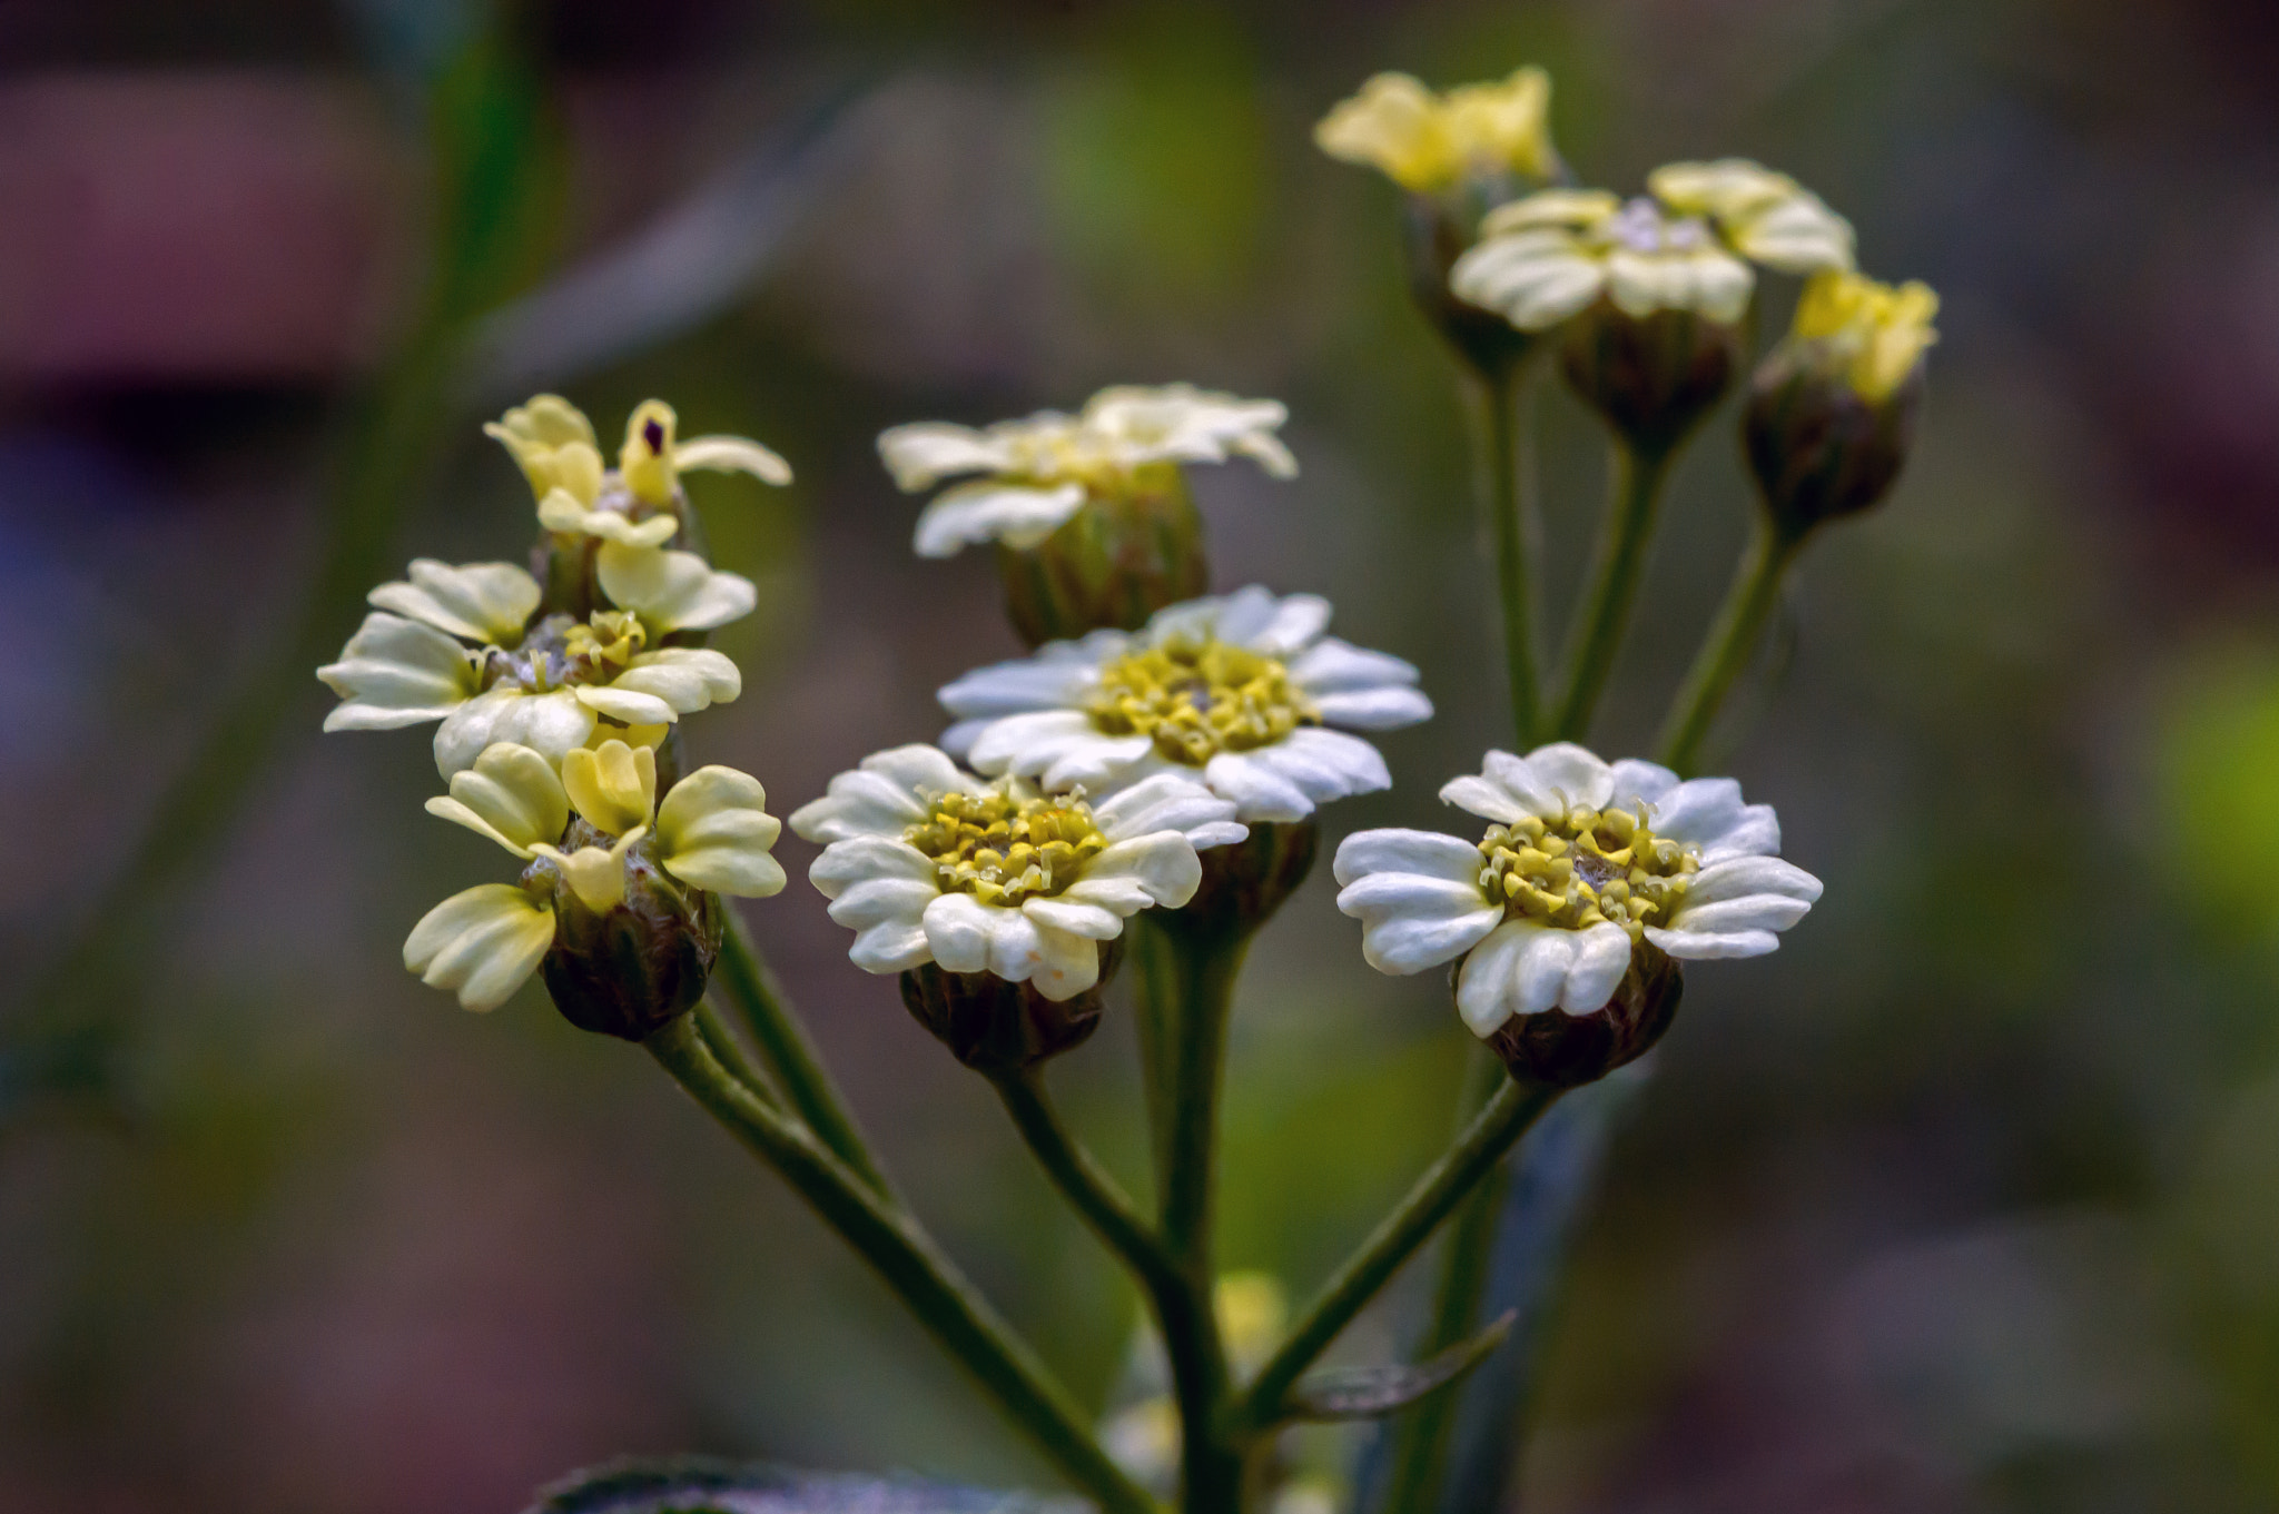
[[[1069,1136],[1044,1093],[1044,1079],[1035,1070],[1005,1075],[996,1079],[996,1088],[998,1097],[1005,1100],[1005,1113],[1012,1116],[1046,1177],[1146,1291],[1149,1309],[1155,1314],[1165,1350],[1171,1357],[1185,1487],[1196,1491],[1240,1489],[1242,1453],[1226,1443],[1219,1425],[1226,1380],[1206,1346],[1210,1336],[1203,1318],[1212,1309],[1210,1291],[1192,1286],[1171,1252],[1124,1198],[1117,1179]],[[1194,1509],[1196,1503],[1196,1496],[1190,1494],[1185,1507]]]

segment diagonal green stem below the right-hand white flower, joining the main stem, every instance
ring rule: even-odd
[[[1281,1343],[1274,1359],[1265,1364],[1244,1396],[1237,1409],[1240,1425],[1265,1427],[1283,1416],[1283,1400],[1299,1375],[1338,1339],[1338,1332],[1354,1323],[1354,1316],[1377,1298],[1392,1280],[1392,1273],[1454,1213],[1456,1204],[1527,1134],[1527,1127],[1534,1125],[1536,1116],[1554,1097],[1559,1097],[1557,1088],[1520,1084],[1518,1079],[1497,1088],[1488,1106],[1472,1120],[1472,1127],[1443,1152],[1440,1161],[1408,1191],[1408,1198],[1370,1232],[1361,1250],[1338,1268],[1313,1305],[1306,1307],[1306,1316],[1297,1330]]]

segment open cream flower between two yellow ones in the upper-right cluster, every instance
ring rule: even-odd
[[[1757,287],[1750,264],[1780,273],[1853,266],[1853,228],[1784,173],[1753,162],[1666,164],[1650,194],[1545,189],[1481,221],[1456,260],[1456,298],[1545,330],[1607,298],[1627,316],[1691,310],[1739,321]]]

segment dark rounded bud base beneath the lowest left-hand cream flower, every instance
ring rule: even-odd
[[[608,845],[606,833],[572,820],[563,856]],[[704,997],[720,956],[720,904],[672,879],[647,840],[618,851],[624,881],[615,904],[595,908],[574,877],[556,888],[554,947],[538,972],[570,1025],[643,1040]]]

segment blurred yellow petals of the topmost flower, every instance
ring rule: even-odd
[[[1379,73],[1313,127],[1324,153],[1381,168],[1402,189],[1438,194],[1475,173],[1559,173],[1550,132],[1552,77],[1520,68],[1436,96],[1406,73]]]

